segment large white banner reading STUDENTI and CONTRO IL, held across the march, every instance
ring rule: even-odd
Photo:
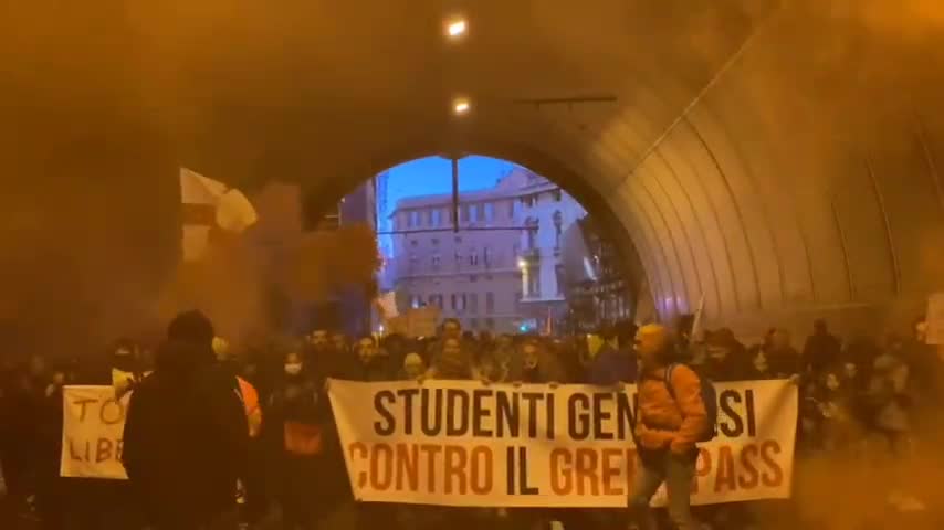
[[[789,497],[796,386],[725,383],[717,394],[720,434],[701,446],[693,502]],[[358,500],[626,506],[636,467],[631,385],[335,380],[329,395]]]

